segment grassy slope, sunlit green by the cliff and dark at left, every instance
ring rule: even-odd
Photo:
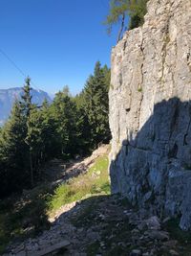
[[[66,203],[92,195],[109,195],[108,157],[100,156],[85,175],[74,177],[54,190],[49,185],[34,188],[25,198],[0,200],[0,254],[12,241],[34,237],[49,228],[48,217]]]

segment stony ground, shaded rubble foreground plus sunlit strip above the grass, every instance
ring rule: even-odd
[[[47,178],[59,184],[85,173],[106,152],[108,146],[67,166],[54,160]],[[49,221],[49,230],[11,244],[3,256],[191,256],[191,235],[180,231],[176,221],[140,212],[119,195],[87,195],[63,205]]]

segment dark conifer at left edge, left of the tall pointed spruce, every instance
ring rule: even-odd
[[[0,194],[20,190],[28,184],[26,172],[27,146],[24,142],[26,126],[18,102],[12,107],[11,117],[2,128],[0,136]]]

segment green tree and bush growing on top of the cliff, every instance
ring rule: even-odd
[[[111,0],[110,12],[104,21],[109,34],[115,24],[120,24],[117,41],[126,28],[125,23],[128,22],[130,30],[138,28],[144,22],[144,15],[147,12],[146,4],[148,0]]]

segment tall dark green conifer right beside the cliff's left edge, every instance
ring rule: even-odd
[[[83,92],[84,109],[88,116],[91,130],[91,143],[94,147],[99,142],[108,141],[110,138],[108,121],[109,73],[109,69],[107,69],[106,66],[101,68],[100,62],[97,61],[94,76],[90,76]]]

